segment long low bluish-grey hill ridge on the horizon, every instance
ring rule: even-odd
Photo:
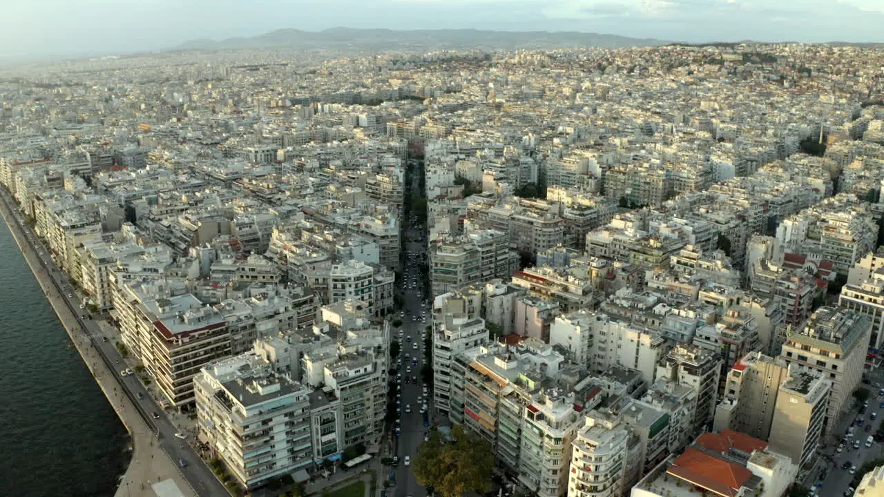
[[[278,29],[251,37],[222,41],[191,40],[173,50],[521,50],[575,47],[622,48],[657,46],[668,42],[615,34],[575,31],[481,31],[476,29],[355,29],[334,27],[319,32]]]

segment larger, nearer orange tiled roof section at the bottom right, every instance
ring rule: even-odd
[[[728,463],[694,447],[688,447],[684,454],[676,457],[667,473],[724,497],[736,497],[740,487],[752,476],[752,472],[743,466]]]

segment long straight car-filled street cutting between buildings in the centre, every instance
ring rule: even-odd
[[[416,175],[409,187],[411,188],[412,195],[423,195],[420,193]],[[420,221],[423,222],[423,220]],[[424,350],[421,333],[428,325],[428,323],[420,320],[423,316],[422,312],[426,312],[426,320],[428,322],[431,320],[430,306],[423,303],[429,297],[423,293],[422,275],[420,274],[420,259],[426,252],[426,237],[424,236],[423,229],[419,229],[416,225],[409,226],[403,232],[403,235],[408,240],[406,242],[406,263],[402,271],[403,284],[400,285],[400,291],[404,298],[404,315],[400,317],[403,322],[403,334],[400,338],[397,332],[396,338],[400,340],[402,346],[400,353],[402,368],[400,369],[400,374],[402,374],[403,379],[406,376],[415,377],[416,382],[402,382],[401,434],[397,437],[394,445],[396,447],[396,455],[399,456],[399,465],[395,470],[396,488],[394,494],[396,497],[423,497],[426,494],[423,486],[417,483],[411,467],[405,466],[404,460],[406,455],[414,460],[417,454],[417,447],[423,442],[424,433],[430,430],[430,428],[423,426],[423,416],[420,413],[421,401],[419,400],[423,392],[421,367],[423,366]],[[413,281],[417,282],[415,287],[413,287]],[[410,341],[408,341],[409,338],[411,339]],[[415,343],[417,344],[416,349],[413,345]],[[408,359],[405,358],[406,354],[408,354]],[[417,364],[412,363],[411,358],[413,357],[417,358]],[[406,369],[408,366],[411,367],[411,373],[407,375]],[[426,399],[428,407],[431,407],[431,394],[429,392]],[[407,404],[411,406],[410,413],[405,411]]]

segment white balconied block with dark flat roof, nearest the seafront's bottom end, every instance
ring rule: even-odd
[[[311,390],[257,354],[207,365],[194,377],[199,438],[240,486],[253,489],[313,466]]]

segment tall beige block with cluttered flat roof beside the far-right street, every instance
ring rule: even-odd
[[[823,306],[807,325],[789,334],[780,356],[796,371],[816,371],[832,383],[827,432],[848,406],[865,369],[872,321],[851,310]]]

